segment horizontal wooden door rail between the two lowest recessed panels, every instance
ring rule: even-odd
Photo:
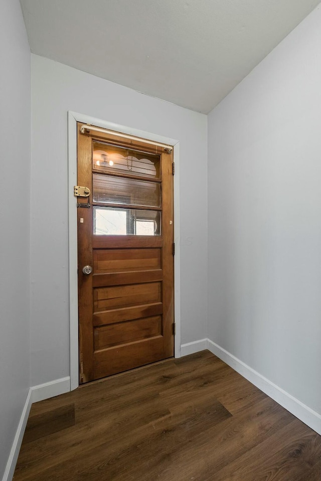
[[[163,314],[162,302],[105,310],[103,312],[94,313],[93,326],[104,326],[106,324],[119,323],[123,320],[139,319],[141,317],[149,317],[158,314]]]

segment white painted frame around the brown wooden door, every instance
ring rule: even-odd
[[[68,244],[69,244],[69,332],[70,332],[70,390],[79,386],[78,339],[78,258],[77,258],[77,122],[88,123],[117,132],[173,145],[174,176],[174,296],[175,296],[175,357],[181,357],[181,258],[180,258],[180,142],[177,139],[116,124],[89,115],[68,111]]]

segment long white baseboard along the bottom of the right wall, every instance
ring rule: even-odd
[[[231,366],[231,368],[241,374],[245,379],[254,384],[254,386],[259,388],[270,398],[274,399],[274,401],[284,407],[287,411],[304,422],[304,424],[309,426],[318,434],[321,434],[321,415],[316,411],[313,411],[291,394],[276,386],[257,371],[254,371],[254,369],[237,359],[231,353],[213,343],[213,341],[210,339],[207,340],[207,349],[226,364]]]

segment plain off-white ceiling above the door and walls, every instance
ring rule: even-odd
[[[199,112],[319,0],[21,0],[31,51]]]

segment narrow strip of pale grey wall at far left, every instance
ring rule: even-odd
[[[29,390],[30,50],[18,0],[0,7],[0,478]]]

